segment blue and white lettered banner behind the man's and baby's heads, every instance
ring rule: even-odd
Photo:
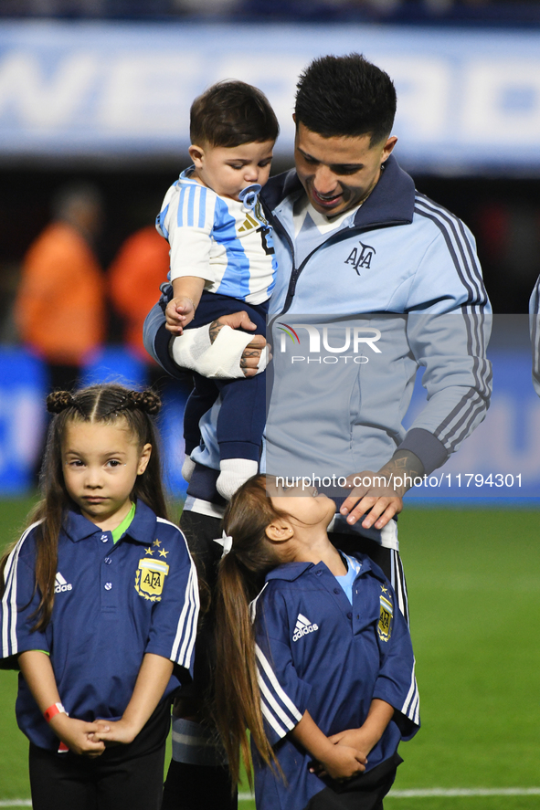
[[[185,153],[191,101],[227,78],[267,93],[290,155],[298,74],[351,51],[396,82],[408,168],[540,170],[540,32],[366,25],[4,22],[0,157]]]

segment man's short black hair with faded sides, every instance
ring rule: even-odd
[[[314,59],[297,84],[296,125],[333,136],[371,135],[370,146],[392,131],[396,89],[384,70],[360,54]]]

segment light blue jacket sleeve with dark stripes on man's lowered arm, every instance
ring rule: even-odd
[[[429,473],[486,415],[492,393],[492,365],[486,359],[492,316],[469,228],[418,193],[415,216],[433,226],[408,293],[408,341],[426,367],[422,384],[429,399],[411,429],[428,430],[444,448],[434,450],[433,458],[429,451],[423,458],[418,448]],[[412,445],[408,449],[415,452]]]

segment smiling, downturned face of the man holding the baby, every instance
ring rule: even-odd
[[[373,146],[370,142],[369,134],[325,138],[298,124],[296,171],[316,211],[326,216],[343,214],[373,191],[397,138],[385,138]]]

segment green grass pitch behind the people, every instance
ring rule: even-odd
[[[0,544],[14,539],[28,505],[0,502]],[[495,508],[409,508],[400,518],[422,729],[401,746],[397,791],[540,786],[539,524],[540,510]],[[15,696],[15,673],[0,672],[0,806],[29,797]],[[385,804],[387,810],[533,810],[540,796],[390,794]]]

